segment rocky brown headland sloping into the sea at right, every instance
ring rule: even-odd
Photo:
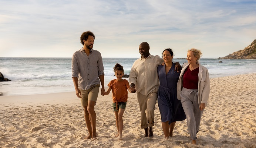
[[[219,57],[219,59],[256,59],[256,39],[245,47],[243,50],[239,50],[225,57]]]

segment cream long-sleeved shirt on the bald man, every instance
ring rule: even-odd
[[[157,67],[162,64],[164,60],[158,55],[139,58],[134,61],[129,81],[130,85],[135,84],[137,94],[140,92],[142,95],[148,95],[152,90],[159,87]]]

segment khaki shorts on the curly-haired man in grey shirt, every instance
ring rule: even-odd
[[[97,102],[98,94],[100,90],[100,84],[92,85],[88,90],[80,90],[82,98],[80,98],[83,107],[88,105],[88,101]]]

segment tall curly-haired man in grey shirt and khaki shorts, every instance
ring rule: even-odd
[[[88,129],[88,136],[85,139],[96,139],[96,104],[100,83],[101,94],[104,89],[104,67],[101,53],[93,50],[95,35],[91,31],[83,32],[80,40],[83,47],[76,51],[72,57],[72,79],[75,86],[75,93],[81,100],[84,108],[84,118]]]

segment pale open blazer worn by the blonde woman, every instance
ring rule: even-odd
[[[208,69],[204,66],[199,64],[199,73],[198,73],[198,105],[200,106],[201,103],[205,103],[205,107],[207,106],[207,102],[210,95],[210,78]],[[181,74],[179,75],[179,80],[177,83],[177,98],[181,99],[181,90],[183,88],[182,81],[183,81],[183,73],[186,68],[189,66],[189,63],[184,63],[182,65]]]

